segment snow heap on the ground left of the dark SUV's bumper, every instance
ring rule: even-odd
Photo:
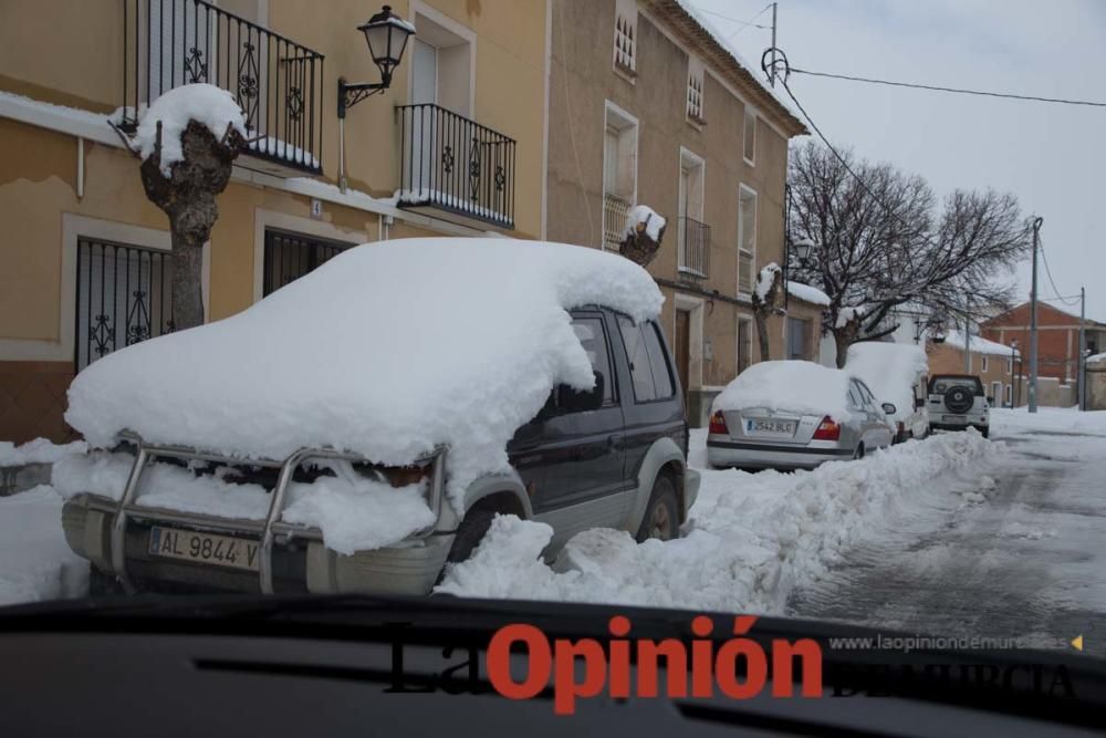
[[[88,562],[62,532],[62,498],[46,486],[0,497],[0,605],[87,591]]]

